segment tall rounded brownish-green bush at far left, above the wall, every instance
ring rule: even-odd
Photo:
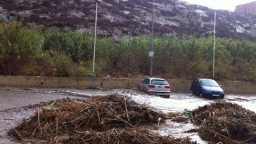
[[[21,22],[0,24],[0,74],[13,75],[40,52],[43,38]]]

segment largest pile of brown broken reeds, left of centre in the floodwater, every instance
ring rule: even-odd
[[[22,143],[195,143],[139,129],[159,118],[166,116],[120,95],[65,99],[38,109],[8,134]]]

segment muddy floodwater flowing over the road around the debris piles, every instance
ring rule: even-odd
[[[57,99],[86,99],[88,97],[118,93],[131,97],[132,100],[152,107],[156,111],[184,112],[192,111],[199,106],[211,104],[216,99],[199,98],[189,93],[172,93],[170,98],[147,95],[132,90],[76,90],[76,89],[38,89],[38,88],[0,88],[0,143],[18,143],[7,136],[7,131],[19,122],[28,119],[37,108]],[[256,95],[226,94],[227,102],[234,102],[256,113]],[[175,138],[189,137],[198,143],[201,140],[197,132],[184,133],[196,126],[191,123],[178,123],[167,120],[165,124],[147,126],[147,129],[163,136],[172,135]]]

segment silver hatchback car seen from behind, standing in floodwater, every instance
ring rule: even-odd
[[[165,79],[159,79],[156,77],[147,77],[139,85],[140,90],[145,90],[148,93],[154,95],[163,95],[170,97],[171,88]]]

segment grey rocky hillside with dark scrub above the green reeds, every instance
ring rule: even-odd
[[[99,0],[98,34],[150,34],[152,0]],[[1,0],[2,22],[24,19],[29,28],[73,29],[93,33],[95,0]],[[256,42],[256,16],[217,11],[216,36]],[[156,0],[155,33],[159,36],[210,36],[214,10],[178,0]]]

